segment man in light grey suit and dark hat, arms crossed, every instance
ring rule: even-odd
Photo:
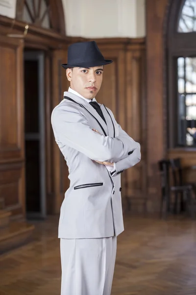
[[[69,168],[59,220],[61,295],[110,295],[117,236],[123,232],[120,174],[140,161],[140,145],[95,99],[105,60],[95,41],[68,48],[70,88],[51,122]]]

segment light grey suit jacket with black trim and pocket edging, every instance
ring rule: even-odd
[[[55,140],[67,162],[70,179],[61,206],[58,236],[118,236],[123,232],[120,173],[140,161],[140,145],[122,130],[104,105],[100,107],[107,124],[87,101],[70,92],[66,96],[74,102],[63,99],[51,115]],[[117,170],[112,174],[94,160],[115,162]]]

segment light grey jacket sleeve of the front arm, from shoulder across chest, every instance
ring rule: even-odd
[[[92,160],[117,162],[127,157],[133,144],[123,134],[112,138],[93,131],[83,114],[68,105],[54,108],[51,124],[57,144],[74,148]]]

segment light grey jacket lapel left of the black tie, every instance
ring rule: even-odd
[[[86,100],[84,100],[83,98],[71,93],[71,92],[68,92],[66,91],[64,93],[64,96],[68,96],[70,98],[72,98],[75,102],[79,103],[80,105],[83,106],[84,109],[86,109],[86,111],[89,113],[89,115],[91,115],[92,117],[96,118],[97,121],[99,122],[99,125],[102,126],[102,130],[105,131],[106,135],[109,135],[108,134],[108,127],[107,125],[105,124],[104,120],[98,115],[98,112],[94,109],[94,107],[92,107],[89,102],[87,102]],[[97,101],[95,98],[93,99],[93,101]],[[102,108],[101,108],[102,110]],[[105,117],[105,115],[103,115]],[[108,115],[109,116],[109,115]],[[106,119],[106,118],[105,118]],[[107,122],[107,120],[106,120]]]

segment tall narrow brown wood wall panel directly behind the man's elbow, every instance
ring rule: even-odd
[[[125,130],[141,145],[141,161],[126,173],[126,194],[129,197],[146,195],[146,92],[145,50],[129,46],[126,53],[126,127]],[[137,199],[135,200],[137,202]],[[134,201],[133,201],[134,202]]]

